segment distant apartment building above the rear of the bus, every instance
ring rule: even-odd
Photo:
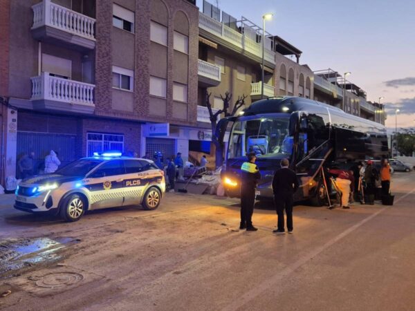
[[[385,107],[367,101],[367,93],[362,88],[331,68],[314,71],[314,100],[336,106],[351,115],[385,124]]]

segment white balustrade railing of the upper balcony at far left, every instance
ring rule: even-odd
[[[37,3],[32,9],[32,29],[49,26],[95,41],[95,19],[58,6],[50,0]]]

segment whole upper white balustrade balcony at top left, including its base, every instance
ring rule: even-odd
[[[44,0],[32,6],[33,37],[76,50],[95,48],[95,19]]]

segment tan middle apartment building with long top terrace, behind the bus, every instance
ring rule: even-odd
[[[246,17],[235,18],[208,1],[199,12],[198,126],[202,137],[210,140],[210,120],[206,93],[213,111],[223,108],[221,96],[232,94],[232,105],[246,96],[245,104],[262,97],[262,46],[264,44],[264,97],[295,95],[313,97],[313,72],[299,64],[301,50],[281,37],[264,32]],[[291,59],[295,57],[296,62]],[[233,108],[231,105],[230,109]],[[199,149],[198,149],[199,148]],[[201,151],[214,156],[214,146],[205,143],[190,147],[190,158]]]

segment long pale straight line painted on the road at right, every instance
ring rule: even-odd
[[[412,191],[405,194],[404,196],[401,196],[400,198],[398,198],[395,201],[395,203],[399,202],[403,198],[406,198],[407,196],[409,196],[409,194],[413,194],[414,192],[415,192],[415,188],[412,189]],[[239,295],[238,300],[235,300],[233,303],[230,303],[230,305],[227,305],[222,310],[226,310],[226,311],[238,310],[239,308],[242,308],[243,305],[246,305],[246,303],[252,301],[252,299],[255,299],[255,297],[259,296],[259,294],[265,292],[269,288],[273,288],[275,290],[275,292],[282,290],[283,287],[279,286],[279,284],[281,284],[281,281],[284,278],[286,278],[291,273],[295,272],[295,270],[297,270],[299,267],[301,267],[302,265],[304,265],[305,263],[310,261],[312,258],[317,256],[318,254],[320,254],[321,252],[323,252],[327,248],[331,247],[331,245],[333,245],[336,242],[340,241],[345,236],[351,234],[351,232],[358,229],[358,227],[364,225],[369,220],[375,218],[380,213],[382,213],[382,211],[385,211],[386,209],[389,209],[389,208],[390,208],[390,206],[383,207],[382,209],[379,209],[378,211],[376,211],[376,213],[371,214],[370,216],[367,216],[367,218],[365,218],[363,220],[360,220],[359,223],[356,223],[356,225],[353,225],[353,226],[349,227],[349,229],[344,230],[344,232],[342,232],[338,236],[335,236],[334,238],[332,238],[330,241],[328,241],[324,245],[322,245],[320,247],[317,247],[312,252],[306,254],[302,258],[299,258],[299,260],[297,260],[295,263],[293,263],[293,265],[290,265],[290,266],[286,267],[284,270],[282,270],[282,272],[279,272],[278,274],[275,274],[275,276],[273,276],[270,279],[265,280],[263,283],[255,286],[255,288],[252,288],[252,290],[249,290],[248,292],[245,292],[245,293]]]

